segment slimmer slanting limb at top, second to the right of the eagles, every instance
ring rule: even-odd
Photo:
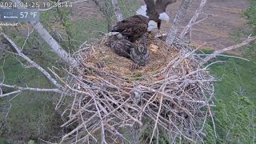
[[[194,16],[190,19],[190,22],[186,25],[184,30],[182,30],[182,33],[179,34],[178,38],[184,38],[185,34],[187,33],[187,30],[190,30],[192,26],[194,26],[194,23],[196,22],[199,14],[202,13],[203,6],[206,5],[207,0],[202,0],[200,3],[200,6],[198,6],[197,10],[194,13]]]

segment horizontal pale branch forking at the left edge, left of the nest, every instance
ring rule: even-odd
[[[62,94],[62,90],[58,90],[58,89],[39,89],[39,88],[31,88],[31,87],[10,86],[3,83],[2,84],[0,83],[0,87],[16,89],[16,91],[13,91],[7,94],[0,94],[0,98],[9,96],[11,94],[18,94],[22,91],[54,92],[54,93]]]

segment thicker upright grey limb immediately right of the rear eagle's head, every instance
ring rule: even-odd
[[[170,31],[166,38],[166,43],[171,46],[174,42],[174,38],[178,32],[179,26],[182,24],[182,20],[186,15],[188,8],[190,7],[190,3],[192,0],[183,0],[181,6],[179,6],[178,14],[176,14],[174,18],[174,25],[171,26]]]

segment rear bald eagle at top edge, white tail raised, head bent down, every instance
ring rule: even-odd
[[[166,6],[177,2],[177,0],[144,0],[146,5],[141,6],[140,9],[136,11],[136,14],[143,15],[146,18],[149,18],[149,22],[157,22],[158,23],[158,33],[162,34],[162,31],[160,30],[161,22],[170,21],[170,17],[168,14],[166,14]]]

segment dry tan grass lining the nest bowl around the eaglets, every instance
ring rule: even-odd
[[[105,45],[105,41],[99,42],[96,46],[90,47],[90,54],[86,52],[83,56],[83,62],[100,69],[116,74],[119,77],[134,78],[134,76],[150,76],[162,70],[168,62],[178,56],[178,50],[169,47],[165,42],[158,38],[154,38],[146,42],[146,46],[154,44],[158,46],[157,51],[150,50],[150,61],[146,66],[142,66],[136,70],[132,70],[134,62],[129,58],[124,58],[115,54],[113,50]],[[98,66],[99,62],[103,62],[105,66]]]

